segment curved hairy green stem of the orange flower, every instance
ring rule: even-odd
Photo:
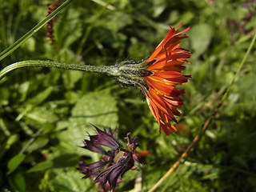
[[[80,70],[86,72],[94,73],[104,73],[113,76],[118,76],[119,72],[116,66],[90,66],[74,63],[65,63],[65,62],[53,62],[53,61],[42,61],[42,60],[28,60],[23,62],[14,62],[13,64],[6,66],[0,71],[0,80],[12,70],[24,67],[50,67],[50,68],[60,68],[64,70]]]

